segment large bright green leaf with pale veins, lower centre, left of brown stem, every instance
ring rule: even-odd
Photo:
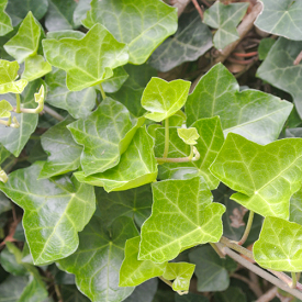
[[[153,183],[153,213],[143,224],[139,260],[164,262],[193,245],[217,242],[224,205],[212,203],[201,177]]]

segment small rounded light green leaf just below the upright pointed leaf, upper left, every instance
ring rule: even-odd
[[[22,79],[33,81],[42,78],[46,74],[52,71],[52,65],[44,60],[43,56],[35,55],[25,58],[25,68],[22,74]]]

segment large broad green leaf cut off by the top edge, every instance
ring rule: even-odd
[[[110,15],[110,18],[109,18]],[[135,18],[130,18],[135,15]],[[131,0],[113,3],[92,0],[83,25],[104,25],[114,37],[128,45],[130,63],[139,65],[177,30],[177,10],[154,0]]]

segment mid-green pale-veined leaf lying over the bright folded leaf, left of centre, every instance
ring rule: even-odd
[[[83,146],[80,161],[85,175],[116,166],[143,123],[143,118],[133,119],[123,104],[107,98],[86,120],[68,125],[74,139]]]

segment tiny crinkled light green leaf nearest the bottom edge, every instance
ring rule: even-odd
[[[174,280],[172,289],[175,291],[188,291],[194,269],[195,266],[192,264],[168,264],[163,277],[167,280]]]

